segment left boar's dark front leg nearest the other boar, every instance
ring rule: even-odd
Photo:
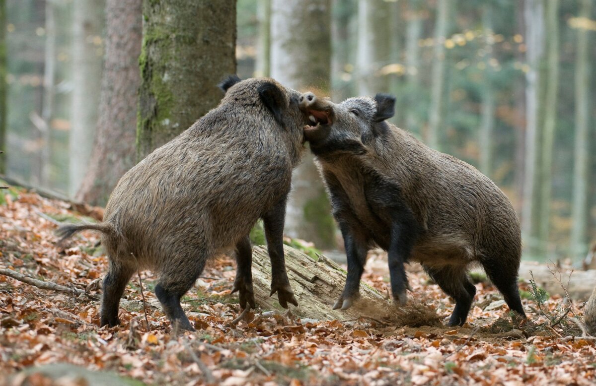
[[[294,297],[294,291],[290,287],[287,272],[285,272],[284,260],[284,221],[285,221],[285,197],[278,204],[271,208],[263,217],[265,238],[267,239],[267,250],[271,259],[271,293],[277,292],[280,305],[288,308],[288,303],[298,305]]]

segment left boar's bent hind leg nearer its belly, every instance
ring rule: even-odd
[[[193,252],[185,254],[184,251]],[[169,261],[172,262],[170,266],[162,267],[159,284],[155,287],[155,294],[162,303],[163,310],[170,319],[172,327],[177,323],[180,329],[194,331],[182,310],[180,298],[193,287],[198,275],[203,272],[207,257],[204,251],[191,250],[191,248],[182,248],[176,254],[178,256],[175,259],[170,258]]]

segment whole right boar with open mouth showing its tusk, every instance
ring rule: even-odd
[[[389,253],[394,300],[406,301],[403,264],[420,262],[455,299],[449,325],[463,325],[476,288],[467,270],[479,263],[511,310],[524,315],[517,288],[519,221],[489,178],[451,155],[435,151],[385,120],[395,98],[350,98],[340,104],[308,93],[305,128],[344,236],[348,274],[334,308],[358,297],[367,250]]]

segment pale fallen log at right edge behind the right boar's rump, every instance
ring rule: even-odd
[[[585,301],[596,288],[596,269],[576,269],[572,272],[571,269],[556,268],[554,264],[522,262],[519,273],[520,278],[524,280],[531,279],[530,271],[532,271],[536,284],[551,295],[565,296],[565,291],[561,287],[561,284],[563,284],[564,287],[567,287],[570,298]]]

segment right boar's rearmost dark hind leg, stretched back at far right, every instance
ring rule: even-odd
[[[491,279],[492,284],[495,285],[497,290],[503,294],[505,303],[509,306],[511,311],[515,311],[526,317],[526,313],[523,311],[522,299],[520,298],[520,292],[517,288],[517,270],[519,269],[519,260],[515,266],[507,266],[503,264],[502,259],[487,259],[489,262],[482,261],[482,266],[485,269],[486,276]],[[499,264],[495,264],[499,262]]]

